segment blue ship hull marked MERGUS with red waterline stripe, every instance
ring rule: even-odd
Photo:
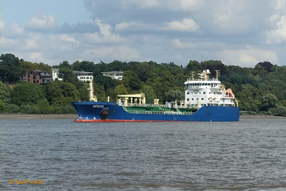
[[[192,115],[128,113],[115,102],[72,102],[78,122],[239,121],[239,107],[202,106]]]

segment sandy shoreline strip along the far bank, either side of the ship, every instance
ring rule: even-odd
[[[1,119],[76,119],[78,117],[75,113],[61,113],[61,114],[28,114],[28,113],[0,113]],[[265,114],[243,114],[239,116],[240,119],[286,119],[286,117],[265,115]]]

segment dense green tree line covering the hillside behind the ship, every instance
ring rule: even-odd
[[[45,86],[20,82],[21,72],[31,68],[47,71],[59,68],[59,78],[63,78],[63,81],[49,82]],[[220,81],[233,90],[241,110],[286,116],[286,66],[260,62],[253,68],[247,68],[227,66],[219,60],[202,62],[190,60],[186,66],[178,66],[173,62],[157,64],[153,61],[118,60],[110,63],[100,61],[97,64],[90,61],[76,61],[69,64],[65,60],[51,67],[43,63],[19,60],[13,54],[2,54],[0,72],[3,83],[1,83],[0,107],[1,112],[12,110],[21,112],[24,111],[23,108],[27,108],[34,113],[74,113],[70,102],[88,100],[88,84],[78,80],[73,73],[75,70],[93,72],[94,93],[99,101],[107,101],[107,96],[110,97],[110,101],[116,101],[117,95],[140,92],[146,94],[147,103],[153,103],[154,99],[159,99],[160,104],[166,101],[184,100],[184,82],[190,78],[190,72],[195,71],[195,78],[198,78],[197,74],[205,69],[210,70],[211,78],[215,78],[215,70],[220,70]],[[116,70],[124,70],[122,80],[100,74]],[[13,79],[10,76],[16,77]],[[15,85],[8,85],[9,83]],[[43,108],[46,111],[40,110]]]

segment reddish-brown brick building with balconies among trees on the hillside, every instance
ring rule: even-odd
[[[49,71],[41,70],[27,70],[26,74],[23,74],[20,78],[25,82],[33,82],[41,85],[46,84],[48,81],[53,81],[53,76]]]

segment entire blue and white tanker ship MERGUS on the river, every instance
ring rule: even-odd
[[[184,83],[185,100],[165,104],[146,104],[145,93],[118,95],[116,102],[97,101],[90,81],[90,101],[72,102],[78,113],[76,122],[190,122],[239,121],[238,101],[231,89],[219,81],[219,70],[209,79],[209,70],[194,72]],[[129,101],[130,99],[130,101]],[[129,103],[128,103],[129,102]],[[178,103],[179,102],[179,103]]]

